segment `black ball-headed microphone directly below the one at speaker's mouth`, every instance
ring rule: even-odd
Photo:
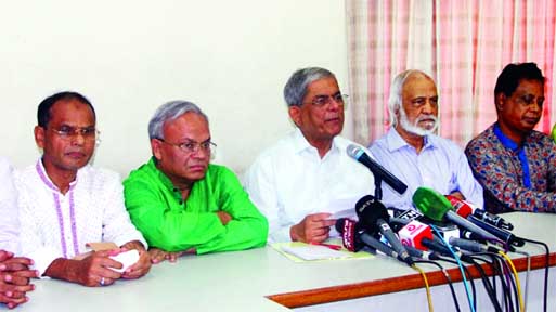
[[[358,213],[361,224],[365,226],[366,230],[371,233],[380,232],[388,243],[390,243],[393,250],[398,252],[400,259],[408,263],[408,265],[413,264],[413,259],[411,259],[408,250],[405,250],[398,237],[393,234],[390,225],[385,221],[389,220],[390,216],[383,203],[376,200],[372,195],[365,195],[355,204],[355,212]]]

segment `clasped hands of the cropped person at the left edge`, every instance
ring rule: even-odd
[[[0,302],[10,309],[27,302],[26,292],[35,289],[29,280],[38,277],[38,272],[29,270],[29,265],[33,260],[0,250]]]

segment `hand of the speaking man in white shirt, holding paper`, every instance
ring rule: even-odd
[[[289,236],[294,242],[303,243],[322,243],[328,238],[331,226],[336,223],[336,220],[327,220],[331,213],[314,213],[309,214],[289,227]]]

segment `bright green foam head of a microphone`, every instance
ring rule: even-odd
[[[442,194],[429,187],[418,187],[413,194],[413,204],[423,214],[435,221],[442,221],[452,204]]]

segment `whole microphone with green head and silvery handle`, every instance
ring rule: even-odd
[[[413,194],[412,200],[423,214],[435,221],[448,220],[487,239],[499,240],[496,236],[454,212],[452,210],[452,204],[432,188],[418,187]]]

